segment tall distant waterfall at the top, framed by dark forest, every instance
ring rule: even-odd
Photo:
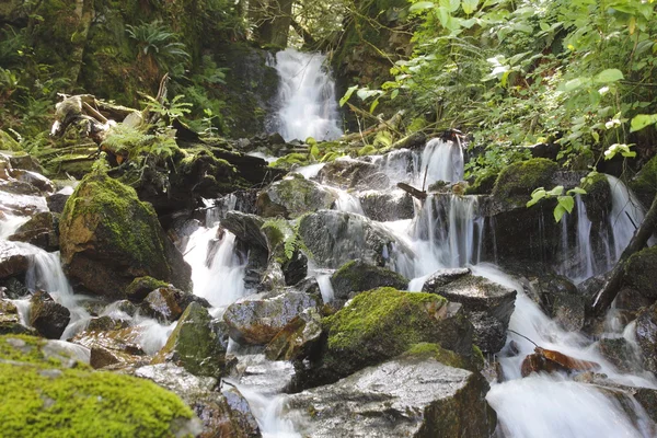
[[[280,80],[276,125],[286,141],[332,140],[342,135],[335,83],[324,66],[326,57],[288,48],[276,54]]]

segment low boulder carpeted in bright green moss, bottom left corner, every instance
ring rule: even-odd
[[[49,345],[31,336],[0,336],[3,436],[127,438],[200,431],[192,410],[175,394],[147,380],[91,371],[62,349],[56,356],[48,353]]]

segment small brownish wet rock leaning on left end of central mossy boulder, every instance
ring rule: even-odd
[[[310,356],[322,336],[322,316],[314,308],[295,316],[265,348],[269,360],[300,360]]]

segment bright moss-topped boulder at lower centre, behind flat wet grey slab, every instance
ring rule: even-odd
[[[322,367],[337,377],[400,355],[413,344],[437,343],[472,354],[472,324],[461,304],[433,293],[380,288],[357,295],[324,319],[327,339]]]

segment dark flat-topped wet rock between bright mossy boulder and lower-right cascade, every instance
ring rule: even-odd
[[[438,272],[425,283],[424,292],[460,302],[474,325],[474,344],[483,351],[499,351],[514,313],[516,291],[484,277],[463,275],[464,269]]]

